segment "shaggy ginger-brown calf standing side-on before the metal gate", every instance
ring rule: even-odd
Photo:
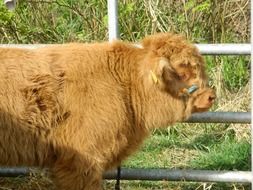
[[[0,164],[49,167],[61,190],[100,189],[151,129],[210,108],[194,46],[169,33],[142,45],[1,48]]]

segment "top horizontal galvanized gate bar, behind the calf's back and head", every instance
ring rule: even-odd
[[[110,34],[115,39],[115,34]],[[250,44],[195,44],[203,55],[250,55]],[[0,47],[35,49],[50,46],[50,44],[1,44]],[[136,45],[141,47],[140,45]]]

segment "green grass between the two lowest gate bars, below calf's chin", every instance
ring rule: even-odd
[[[195,125],[191,129],[179,125],[170,129],[170,132],[177,130],[178,133],[172,132],[172,136],[164,130],[156,131],[124,166],[250,170],[250,143],[237,141],[233,131],[227,127],[216,127],[219,132],[212,128],[210,132],[208,124]],[[195,130],[196,134],[192,135]]]

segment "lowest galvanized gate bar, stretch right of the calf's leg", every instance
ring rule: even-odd
[[[117,171],[109,171],[104,179],[115,179]],[[212,171],[212,170],[170,170],[170,169],[121,169],[121,180],[167,180],[199,182],[238,182],[251,183],[251,172]]]

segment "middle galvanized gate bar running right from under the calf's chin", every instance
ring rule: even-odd
[[[192,114],[187,123],[251,123],[251,112],[205,112]]]

